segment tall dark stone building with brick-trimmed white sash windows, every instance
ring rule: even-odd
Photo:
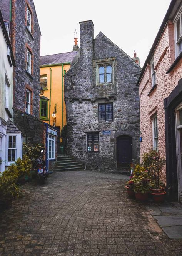
[[[10,24],[17,63],[13,77],[14,123],[23,131],[25,142],[40,143],[40,27],[35,6],[33,0],[0,0],[0,7]]]

